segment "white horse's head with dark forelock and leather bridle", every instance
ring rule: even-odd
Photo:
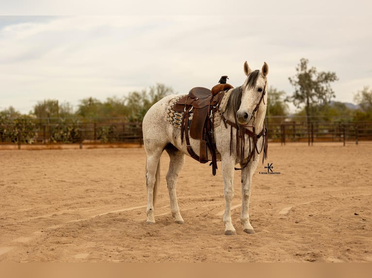
[[[259,124],[263,122],[266,114],[269,66],[265,62],[261,71],[252,71],[245,62],[244,73],[247,78],[241,86],[241,103],[237,110],[237,122],[243,125]]]

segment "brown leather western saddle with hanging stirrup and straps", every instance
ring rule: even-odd
[[[214,113],[219,109],[225,91],[232,89],[230,84],[218,84],[209,90],[203,87],[195,87],[178,100],[173,110],[183,112],[181,123],[181,142],[186,139],[187,152],[192,158],[201,163],[212,161],[212,173],[216,175],[217,155],[216,142],[214,139]],[[190,116],[192,119],[190,120]],[[189,133],[193,139],[200,140],[199,155],[190,145]],[[208,159],[208,149],[211,158]]]

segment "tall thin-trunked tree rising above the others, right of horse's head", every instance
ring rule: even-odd
[[[328,103],[335,97],[330,83],[338,80],[334,72],[317,72],[315,67],[308,68],[309,60],[302,58],[296,67],[297,74],[288,77],[295,91],[287,100],[297,108],[305,107],[308,144],[310,145],[310,117],[315,116],[319,105]]]

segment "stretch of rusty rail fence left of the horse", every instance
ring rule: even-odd
[[[121,119],[89,121],[23,119],[0,123],[0,144],[138,143],[142,146],[142,123]]]

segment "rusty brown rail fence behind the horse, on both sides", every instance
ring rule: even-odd
[[[316,121],[304,118],[267,117],[269,141],[346,142],[372,141],[372,122]],[[0,144],[104,144],[132,143],[142,146],[142,124],[124,119],[0,119]]]

